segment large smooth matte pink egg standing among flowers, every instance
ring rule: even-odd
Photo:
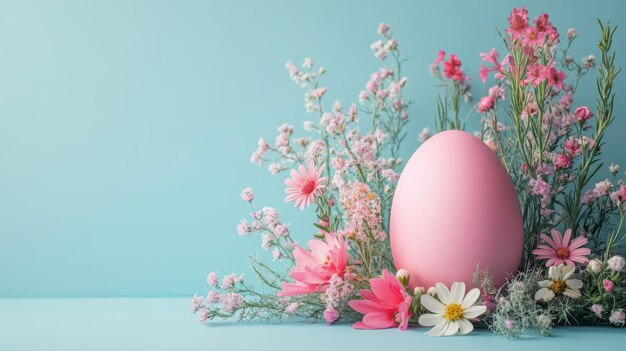
[[[511,177],[480,139],[445,131],[406,164],[393,198],[391,252],[410,287],[470,284],[477,264],[501,285],[520,263],[524,229]]]

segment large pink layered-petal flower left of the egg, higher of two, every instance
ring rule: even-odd
[[[309,240],[309,251],[295,246],[293,257],[296,265],[290,275],[296,282],[283,282],[278,296],[323,292],[334,274],[344,277],[348,258],[346,243],[342,236],[333,233],[326,233],[325,239]]]

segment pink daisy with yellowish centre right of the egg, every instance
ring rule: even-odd
[[[591,254],[591,249],[582,247],[587,244],[587,238],[580,235],[570,243],[572,229],[566,230],[563,236],[556,229],[552,229],[551,234],[552,238],[541,234],[541,239],[548,245],[539,245],[533,250],[533,255],[537,256],[537,259],[548,260],[546,267],[558,266],[560,264],[574,266],[574,262],[589,262],[589,258],[585,256]]]

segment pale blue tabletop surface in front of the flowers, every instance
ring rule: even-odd
[[[215,321],[184,298],[0,299],[0,350],[624,350],[626,328],[557,328],[503,339],[487,330],[436,338],[426,329],[364,331],[349,324]]]

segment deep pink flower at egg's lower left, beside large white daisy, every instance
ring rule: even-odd
[[[370,280],[372,290],[361,290],[361,296],[365,300],[352,300],[350,307],[364,314],[361,322],[352,325],[356,329],[384,329],[399,327],[406,330],[411,318],[411,296],[409,296],[402,283],[383,270],[382,278]]]

